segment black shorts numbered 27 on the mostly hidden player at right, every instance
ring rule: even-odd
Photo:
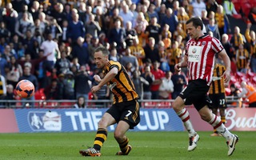
[[[212,101],[212,108],[226,108],[226,96],[222,94],[209,94],[209,98]]]

